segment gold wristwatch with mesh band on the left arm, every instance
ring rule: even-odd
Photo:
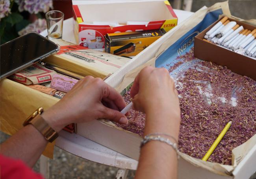
[[[44,111],[43,107],[39,107],[31,114],[23,123],[23,126],[32,124],[40,133],[43,134],[46,140],[53,142],[59,135],[52,127],[42,118],[40,114]]]

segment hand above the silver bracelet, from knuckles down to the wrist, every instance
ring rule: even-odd
[[[165,68],[143,68],[135,78],[130,94],[135,110],[148,114],[161,109],[180,118],[178,92]]]

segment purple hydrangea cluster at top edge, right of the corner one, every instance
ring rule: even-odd
[[[39,12],[46,13],[53,8],[52,0],[16,0],[19,4],[19,11],[28,11],[30,14]]]

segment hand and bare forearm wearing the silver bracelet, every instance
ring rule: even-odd
[[[165,133],[167,135],[162,137],[171,142],[178,141],[178,93],[165,68],[143,68],[135,78],[130,94],[134,98],[134,109],[146,114],[144,135]],[[141,148],[135,179],[177,178],[176,157],[177,153],[172,146],[160,141],[148,142]]]

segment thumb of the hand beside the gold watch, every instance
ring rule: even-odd
[[[102,111],[103,113],[101,114],[102,116],[100,116],[100,118],[115,121],[115,122],[118,122],[119,124],[127,124],[128,122],[126,116],[120,113],[120,111],[117,111],[115,109],[110,109],[105,106]]]

